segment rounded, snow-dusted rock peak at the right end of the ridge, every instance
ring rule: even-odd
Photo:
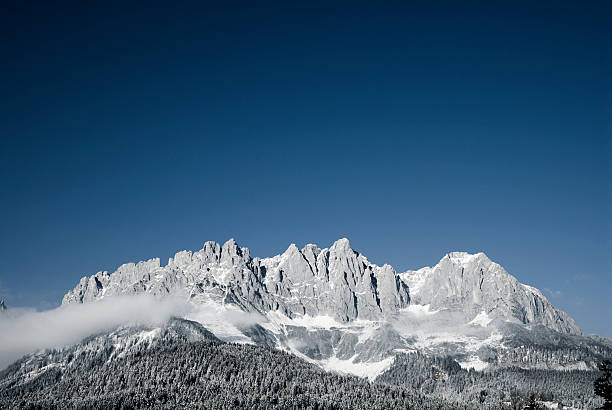
[[[432,310],[463,310],[472,318],[500,318],[581,334],[574,320],[555,309],[539,290],[519,283],[484,253],[452,252],[432,268],[401,276],[413,302]]]

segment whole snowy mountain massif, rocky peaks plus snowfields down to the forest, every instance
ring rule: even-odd
[[[476,369],[503,366],[506,357],[516,365],[506,344],[517,329],[586,339],[571,317],[484,253],[452,252],[433,267],[398,274],[369,262],[347,239],[324,249],[292,244],[264,259],[233,239],[206,242],[165,266],[151,259],[84,277],[62,304],[143,293],[184,295],[194,307],[187,318],[223,340],[282,348],[371,378],[398,352],[415,350],[450,354]],[[560,357],[538,366],[595,363],[588,354]]]

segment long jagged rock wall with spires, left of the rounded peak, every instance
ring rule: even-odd
[[[159,259],[84,277],[62,304],[105,296],[186,292],[194,301],[216,299],[245,310],[331,316],[338,321],[383,320],[408,306],[406,284],[389,265],[377,266],[351,249],[347,239],[330,248],[295,245],[273,258],[251,258],[233,239],[182,251],[166,266]]]

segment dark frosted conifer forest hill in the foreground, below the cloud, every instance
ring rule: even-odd
[[[0,408],[475,408],[328,373],[267,347],[214,340],[166,342],[112,360],[99,352],[65,359],[63,369],[48,363],[31,380],[5,385]]]

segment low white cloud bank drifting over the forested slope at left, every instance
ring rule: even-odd
[[[121,325],[159,325],[172,316],[184,316],[189,309],[183,298],[148,295],[118,296],[42,312],[9,307],[0,315],[0,369],[39,349],[71,345]]]

